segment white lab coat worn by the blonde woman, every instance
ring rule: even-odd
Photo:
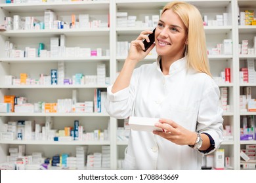
[[[119,119],[131,115],[167,118],[190,131],[209,133],[215,141],[215,149],[218,148],[223,141],[219,87],[205,73],[187,69],[186,59],[175,61],[169,75],[163,75],[159,57],[158,61],[135,69],[129,87],[112,93],[112,86],[109,86],[107,112]],[[202,153],[151,132],[131,130],[124,167],[201,169]]]

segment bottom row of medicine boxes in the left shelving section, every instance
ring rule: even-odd
[[[110,146],[102,146],[101,152],[89,153],[88,146],[76,146],[75,154],[60,153],[51,158],[43,152],[26,155],[26,146],[9,148],[7,161],[0,164],[1,170],[51,170],[110,168]]]

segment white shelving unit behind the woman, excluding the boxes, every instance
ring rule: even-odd
[[[245,144],[256,144],[256,141],[240,141],[240,116],[256,115],[256,112],[240,112],[239,97],[240,88],[251,86],[256,90],[256,84],[240,84],[239,69],[240,64],[247,58],[256,56],[240,55],[238,53],[238,44],[242,39],[251,39],[256,35],[256,26],[238,25],[236,18],[238,6],[240,10],[252,8],[256,11],[256,1],[240,0],[194,0],[188,1],[199,8],[202,15],[209,16],[210,19],[223,12],[229,13],[230,25],[225,26],[205,26],[205,35],[207,48],[211,49],[223,39],[232,39],[232,55],[209,55],[211,73],[213,76],[219,76],[219,73],[226,67],[231,69],[231,82],[219,84],[219,87],[228,87],[230,101],[230,112],[224,112],[224,125],[230,125],[234,141],[224,141],[221,148],[225,150],[225,156],[231,158],[233,169],[240,169],[240,149]],[[72,97],[72,90],[78,91],[78,100],[93,100],[93,90],[103,88],[106,90],[108,85],[71,85],[71,86],[7,86],[2,82],[2,76],[17,75],[19,73],[29,73],[30,76],[39,76],[39,73],[50,73],[51,69],[57,68],[58,61],[64,61],[66,64],[66,74],[71,76],[74,73],[88,73],[95,75],[96,64],[105,63],[107,76],[110,77],[110,84],[116,79],[116,73],[121,70],[125,61],[125,56],[117,56],[117,41],[128,41],[136,39],[144,29],[153,29],[153,27],[118,27],[116,22],[117,12],[128,12],[129,15],[137,16],[137,19],[143,20],[145,15],[152,16],[160,14],[161,8],[169,3],[169,0],[116,0],[116,1],[80,1],[80,2],[62,2],[62,3],[21,3],[5,4],[0,0],[0,21],[5,16],[36,16],[42,20],[43,12],[51,9],[60,16],[67,19],[72,13],[93,14],[96,18],[108,21],[110,15],[110,27],[91,28],[91,29],[43,29],[43,30],[19,30],[19,31],[1,31],[0,46],[4,48],[5,41],[16,43],[18,48],[24,49],[25,46],[37,47],[39,42],[44,42],[49,50],[51,37],[66,35],[66,44],[68,46],[83,46],[90,48],[101,47],[110,50],[110,56],[98,56],[89,58],[5,58],[5,52],[0,51],[0,102],[4,95],[20,95],[28,97],[32,103],[35,101],[56,101],[58,98]],[[0,22],[1,24],[3,22]],[[140,64],[152,63],[156,61],[157,56],[147,56]],[[139,65],[140,65],[139,64]],[[138,67],[139,67],[138,65]],[[256,93],[256,92],[255,92]],[[254,95],[254,97],[256,97]],[[74,146],[89,146],[90,152],[100,150],[102,145],[110,145],[111,165],[110,169],[117,169],[117,161],[123,158],[127,141],[117,141],[117,127],[119,123],[104,113],[0,113],[0,129],[3,124],[11,120],[44,120],[46,116],[53,116],[56,127],[64,127],[66,124],[73,124],[74,120],[79,119],[90,129],[104,126],[110,122],[110,141],[72,141],[72,142],[51,142],[51,141],[0,141],[0,163],[5,161],[9,147],[17,144],[26,144],[27,154],[31,154],[39,148],[47,156],[53,156],[57,150],[70,150],[74,153]],[[64,124],[62,124],[64,120]],[[56,122],[55,122],[56,121]],[[47,149],[51,147],[51,150]]]

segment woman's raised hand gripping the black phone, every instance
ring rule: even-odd
[[[146,41],[150,41],[148,39],[148,34],[153,33],[153,31],[150,30],[146,30],[146,31],[142,31],[139,35],[139,37],[137,37],[137,39],[135,39],[134,41],[131,41],[131,46],[129,48],[129,54],[127,56],[127,60],[130,61],[135,61],[136,63],[138,63],[140,60],[144,59],[148,53],[154,48],[155,44],[153,43],[150,48],[148,48],[148,50],[146,50],[146,52],[144,52],[144,44],[142,42],[143,39],[146,39]]]

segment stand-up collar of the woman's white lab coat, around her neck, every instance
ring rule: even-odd
[[[187,59],[188,56],[184,56],[184,58],[178,59],[177,61],[173,62],[169,68],[169,75],[179,73],[179,71],[186,69]],[[160,69],[160,60],[161,56],[158,56],[158,59],[156,60],[156,68],[162,73]]]

